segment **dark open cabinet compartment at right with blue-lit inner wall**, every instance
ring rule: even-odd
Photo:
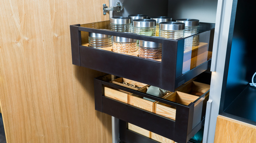
[[[249,85],[256,72],[256,31],[247,21],[253,12],[245,1],[233,1],[219,114],[256,125],[256,88]]]

